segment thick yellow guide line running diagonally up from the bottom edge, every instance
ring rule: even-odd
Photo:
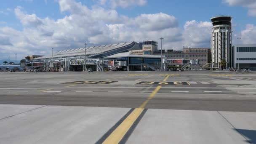
[[[125,120],[113,131],[107,139],[102,144],[118,144],[125,133],[131,128],[135,120],[141,115],[141,112],[144,110],[144,107],[152,99],[155,94],[160,90],[162,86],[157,86],[157,88],[150,94],[148,99],[141,104],[139,108],[133,110],[133,112],[125,118]]]

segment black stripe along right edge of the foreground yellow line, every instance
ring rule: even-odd
[[[144,109],[141,114],[139,115],[139,117],[135,120],[135,122],[133,123],[133,125],[131,125],[131,128],[129,128],[129,130],[127,131],[127,133],[125,133],[125,135],[123,136],[123,138],[121,139],[121,141],[119,142],[119,144],[125,144],[126,141],[129,139],[129,137],[131,136],[131,134],[133,133],[134,129],[136,128],[136,126],[138,125],[138,123],[140,122],[141,118],[145,115],[145,113],[147,112],[147,109]]]

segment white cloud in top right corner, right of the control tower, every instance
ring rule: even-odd
[[[229,6],[243,6],[248,8],[249,16],[256,16],[256,0],[223,0]]]

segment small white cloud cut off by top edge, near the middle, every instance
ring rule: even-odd
[[[147,0],[99,0],[101,5],[109,5],[111,8],[127,8],[131,6],[143,6]]]

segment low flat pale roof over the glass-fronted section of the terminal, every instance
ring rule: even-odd
[[[136,55],[136,54],[131,54],[132,52],[126,52],[126,53],[117,53],[112,56],[107,56],[104,57],[104,59],[115,59],[115,58],[159,58],[161,59],[161,56],[159,55]],[[163,56],[165,57],[165,56]]]

